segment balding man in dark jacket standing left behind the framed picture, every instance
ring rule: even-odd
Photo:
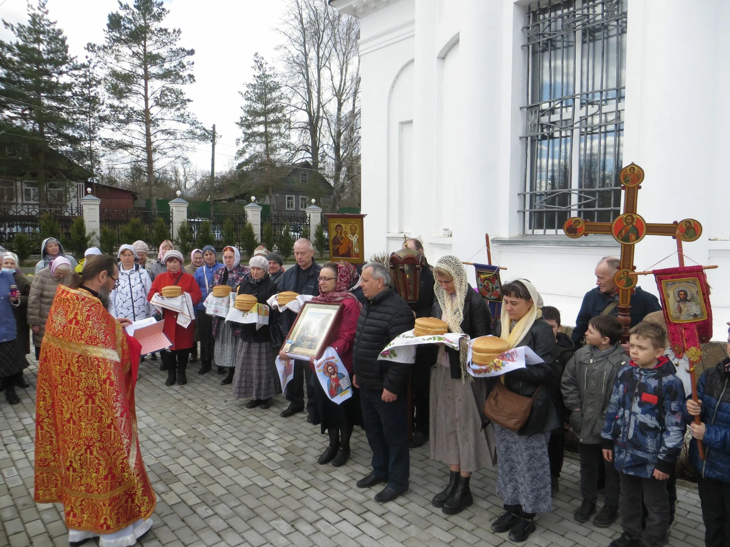
[[[319,272],[322,267],[315,263],[315,248],[312,241],[306,238],[297,239],[294,243],[294,258],[296,266],[289,268],[284,273],[284,281],[279,287],[279,292],[293,291],[300,295],[319,295]],[[286,336],[291,325],[296,319],[293,311],[286,310],[281,314],[281,327],[283,335]],[[294,360],[294,376],[286,387],[286,398],[291,401],[288,408],[282,411],[280,416],[288,418],[297,412],[304,410],[304,383],[307,384],[307,422],[314,421],[313,411],[315,409],[314,389],[311,385],[312,371],[309,363],[301,360]]]

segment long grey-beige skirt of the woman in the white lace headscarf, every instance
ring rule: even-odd
[[[472,473],[494,465],[491,425],[482,430],[482,412],[487,398],[487,380],[464,383],[452,379],[443,365],[431,368],[429,447],[431,459],[458,464]]]

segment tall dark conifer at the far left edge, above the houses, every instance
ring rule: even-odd
[[[47,177],[58,161],[51,158],[57,158],[55,152],[61,158],[72,155],[80,142],[72,94],[78,66],[46,4],[28,4],[27,24],[3,20],[15,42],[0,40],[0,133],[30,156],[27,167],[38,173],[40,209],[47,207]]]

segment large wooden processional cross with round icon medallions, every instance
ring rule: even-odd
[[[671,236],[677,239],[677,252],[682,257],[682,241],[696,241],[702,236],[702,225],[694,219],[685,219],[671,224],[650,224],[637,213],[637,198],[641,183],[644,180],[644,170],[636,163],[621,169],[619,174],[621,190],[624,195],[623,214],[613,222],[591,222],[579,217],[570,217],[563,224],[563,231],[569,238],[580,238],[593,233],[602,233],[613,236],[621,244],[621,263],[613,276],[613,282],[618,288],[618,320],[623,325],[622,342],[629,341],[629,327],[631,327],[631,293],[637,286],[634,266],[634,245],[644,236]]]

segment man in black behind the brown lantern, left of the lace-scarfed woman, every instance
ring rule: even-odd
[[[406,241],[409,249],[423,253],[423,244],[416,238]],[[434,274],[426,261],[426,269],[420,274],[418,287],[418,304],[415,317],[431,317],[431,308],[434,306]],[[410,443],[412,449],[423,446],[429,440],[429,403],[431,400],[431,365],[436,362],[437,352],[434,346],[416,346],[413,370],[413,438]]]

